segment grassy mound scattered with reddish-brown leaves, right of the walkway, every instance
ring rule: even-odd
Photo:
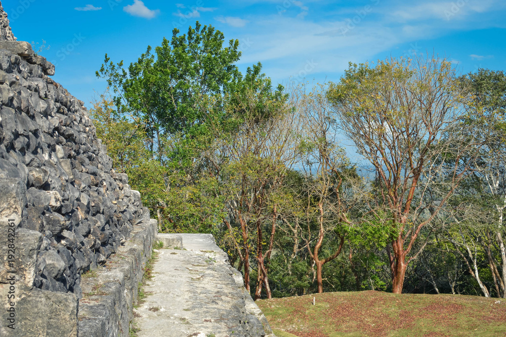
[[[506,336],[503,298],[360,291],[256,303],[278,337]]]

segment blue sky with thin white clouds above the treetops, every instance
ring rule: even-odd
[[[4,0],[19,41],[56,65],[53,77],[90,107],[106,88],[108,53],[137,60],[146,47],[198,20],[238,39],[244,70],[262,62],[274,83],[338,81],[348,62],[438,53],[461,72],[506,68],[506,2],[325,0]],[[37,45],[38,43],[38,45]]]

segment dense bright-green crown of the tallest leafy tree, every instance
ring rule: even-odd
[[[148,47],[128,69],[106,54],[97,76],[117,94],[118,111],[132,111],[143,120],[153,140],[150,149],[159,160],[167,156],[167,138],[181,133],[180,140],[204,141],[208,115],[223,114],[224,109],[217,107],[223,106],[229,83],[240,76],[235,62],[241,56],[237,40],[224,43],[221,31],[197,21],[186,34],[175,28],[170,41],[164,38],[154,52]],[[183,146],[172,150],[170,156],[183,161],[191,156]]]

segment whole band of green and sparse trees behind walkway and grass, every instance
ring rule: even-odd
[[[160,232],[214,234],[255,298],[506,296],[504,72],[426,55],[285,89],[238,46],[197,22],[97,71],[97,132]]]

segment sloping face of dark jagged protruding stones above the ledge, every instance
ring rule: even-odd
[[[149,210],[112,169],[82,102],[51,72],[28,43],[0,41],[0,179],[17,179],[26,190],[23,205],[6,201],[0,212],[21,209],[19,226],[48,240],[37,252],[34,286],[80,296],[79,275],[104,264]],[[2,198],[12,196],[0,186]],[[55,267],[56,255],[65,270]]]

